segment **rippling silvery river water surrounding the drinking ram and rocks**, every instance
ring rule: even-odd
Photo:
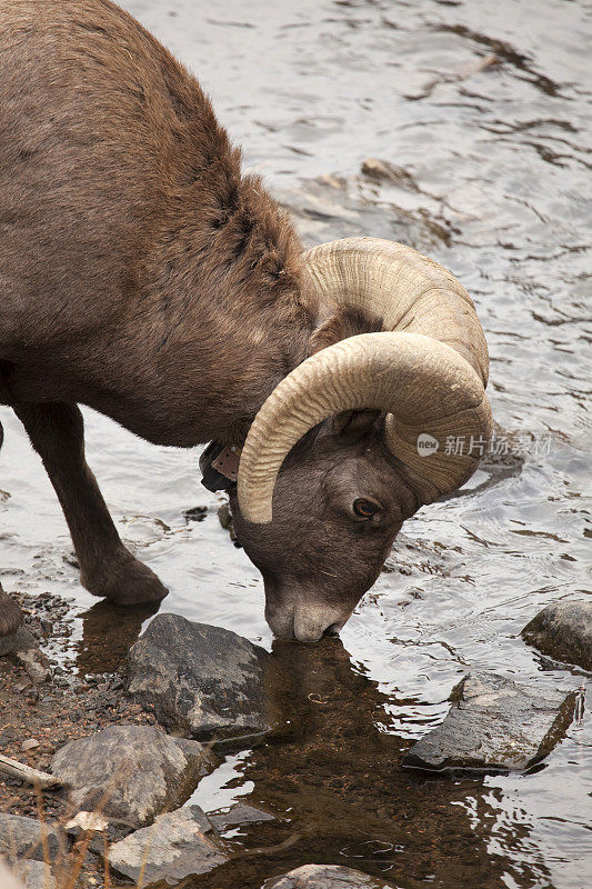
[[[486,331],[499,423],[501,459],[405,523],[341,641],[273,647],[292,679],[271,693],[294,737],[228,757],[193,799],[208,810],[244,799],[283,820],[235,831],[231,862],[199,886],[258,889],[309,861],[405,889],[590,886],[589,710],[526,775],[423,776],[400,760],[469,669],[585,685],[520,630],[544,605],[590,590],[592,6],[126,6],[198,74],[307,244],[405,240],[460,278]],[[361,178],[369,156],[401,168],[394,181]],[[13,414],[0,417],[2,583],[71,599],[66,656],[107,670],[139,620],[107,630],[109,609],[89,613],[96,600],[78,583],[50,485]],[[219,526],[222,498],[200,488],[198,455],[91,411],[87,441],[122,537],[170,587],[163,610],[271,648],[259,575]],[[203,521],[184,516],[195,506],[208,507]]]

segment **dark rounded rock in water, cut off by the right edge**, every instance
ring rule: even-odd
[[[522,638],[554,660],[592,670],[592,598],[546,606],[526,623]]]

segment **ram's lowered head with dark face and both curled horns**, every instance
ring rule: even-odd
[[[373,238],[304,261],[332,309],[259,411],[231,506],[273,632],[313,641],[345,623],[403,520],[474,472],[491,412],[483,330],[449,271]]]

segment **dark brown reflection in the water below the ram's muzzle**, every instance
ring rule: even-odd
[[[270,706],[278,721],[291,725],[291,737],[234,758],[228,786],[280,820],[233,830],[231,843],[245,853],[215,877],[200,877],[199,887],[259,889],[264,877],[310,861],[348,865],[405,887],[503,885],[508,865],[496,851],[500,825],[484,779],[403,771],[408,742],[390,733],[388,715],[400,701],[352,663],[339,639],[274,643],[269,680]],[[224,780],[228,768],[220,775]],[[215,806],[214,779],[191,801]],[[518,820],[515,848],[535,846],[531,827]],[[526,861],[513,879],[525,889],[543,876],[544,867]]]

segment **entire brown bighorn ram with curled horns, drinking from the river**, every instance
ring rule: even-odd
[[[242,447],[231,509],[272,630],[339,631],[403,520],[478,465],[444,447],[490,431],[466,291],[389,241],[303,252],[198,82],[109,0],[2,3],[0,72],[0,402],[81,582],[122,605],[167,593],[121,543],[79,403],[155,443],[218,442],[229,478]],[[0,635],[21,617],[0,593]]]

